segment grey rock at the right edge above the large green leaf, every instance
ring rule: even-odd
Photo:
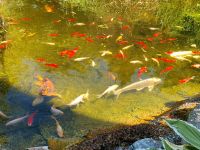
[[[188,122],[200,129],[200,104],[190,112]]]

